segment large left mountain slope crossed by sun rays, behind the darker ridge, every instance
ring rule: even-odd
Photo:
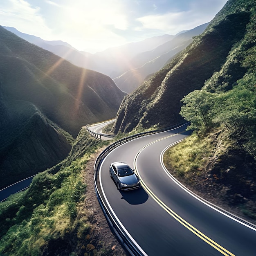
[[[0,40],[4,95],[34,103],[74,136],[88,122],[115,116],[125,94],[110,77],[76,67],[1,27]]]

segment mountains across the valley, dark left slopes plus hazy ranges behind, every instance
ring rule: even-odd
[[[0,27],[0,188],[67,156],[81,126],[115,117],[124,92],[135,90],[206,25],[96,54]]]

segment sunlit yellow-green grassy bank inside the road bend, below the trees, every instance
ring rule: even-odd
[[[225,128],[194,133],[166,150],[163,160],[192,191],[256,223],[255,160]]]

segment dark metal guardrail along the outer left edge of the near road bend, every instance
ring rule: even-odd
[[[120,139],[120,140],[114,142],[113,144],[111,144],[110,146],[108,146],[105,150],[103,150],[101,152],[101,154],[99,155],[99,157],[97,158],[95,164],[94,164],[94,185],[95,185],[96,195],[97,195],[97,198],[99,200],[99,204],[101,205],[103,213],[104,213],[106,219],[108,220],[110,226],[112,227],[112,230],[115,232],[115,234],[121,240],[121,243],[123,243],[123,245],[126,247],[128,252],[130,252],[130,254],[133,255],[133,256],[141,256],[141,255],[144,255],[144,254],[140,251],[137,244],[127,236],[126,232],[121,227],[121,225],[119,225],[115,216],[112,216],[112,214],[110,213],[110,209],[107,206],[107,203],[105,202],[104,198],[101,196],[101,187],[100,187],[99,179],[98,179],[98,177],[99,177],[99,167],[100,167],[103,159],[106,157],[106,155],[108,155],[108,153],[110,153],[110,151],[117,148],[121,144],[124,144],[127,141],[130,141],[132,139],[135,139],[135,138],[138,138],[138,137],[141,137],[141,136],[151,135],[151,134],[154,134],[154,133],[171,130],[173,128],[177,128],[177,127],[181,126],[182,124],[186,124],[186,123],[187,122],[184,121],[184,122],[181,122],[179,124],[176,124],[176,125],[168,127],[168,128],[163,128],[163,129],[160,129],[160,130],[154,130],[154,131],[149,131],[149,132],[141,132],[141,133],[138,133],[136,135],[132,135],[132,136]]]

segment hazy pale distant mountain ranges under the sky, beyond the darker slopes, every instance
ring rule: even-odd
[[[62,41],[45,41],[39,37],[21,33],[12,27],[4,28],[77,66],[107,74],[121,90],[130,93],[148,75],[162,68],[175,54],[189,45],[192,37],[201,34],[208,24],[182,31],[176,36],[155,36],[140,42],[112,47],[96,54],[78,51]]]

